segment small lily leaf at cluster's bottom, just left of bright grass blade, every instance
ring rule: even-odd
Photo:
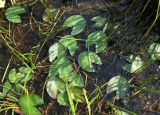
[[[68,95],[66,93],[59,93],[57,101],[60,105],[63,105],[63,106],[69,105]]]

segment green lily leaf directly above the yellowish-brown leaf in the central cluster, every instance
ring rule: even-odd
[[[70,83],[71,86],[77,86],[77,87],[84,87],[84,81],[80,75],[76,75],[72,82]]]

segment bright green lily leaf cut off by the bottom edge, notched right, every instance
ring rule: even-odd
[[[19,99],[19,106],[25,115],[40,115],[41,113],[36,106],[43,103],[43,99],[35,94],[23,95]]]

